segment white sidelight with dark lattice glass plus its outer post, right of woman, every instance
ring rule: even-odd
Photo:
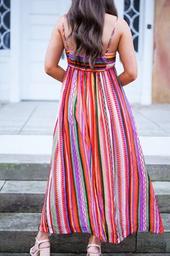
[[[152,103],[152,55],[154,36],[154,0],[115,0],[118,16],[124,18],[131,28],[137,57],[138,76],[124,86],[130,103]],[[116,56],[116,70],[122,72],[122,64]]]

